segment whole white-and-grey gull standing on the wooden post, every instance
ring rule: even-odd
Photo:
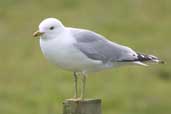
[[[137,53],[129,47],[109,41],[86,29],[65,27],[56,18],[44,19],[39,30],[40,48],[50,63],[73,72],[75,99],[84,100],[87,74],[128,64],[147,66],[144,62],[164,63],[154,55]],[[81,96],[78,97],[78,76],[81,76]]]

